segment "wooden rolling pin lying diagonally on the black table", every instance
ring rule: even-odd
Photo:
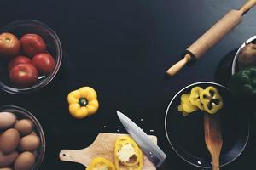
[[[189,48],[186,49],[184,58],[178,61],[177,64],[172,65],[166,73],[170,76],[174,76],[177,71],[180,71],[189,61],[201,59],[203,54],[206,54],[212,46],[241,22],[242,15],[246,14],[254,5],[256,5],[256,0],[247,0],[247,3],[239,10],[231,10],[228,14],[224,15],[212,28],[190,45]]]

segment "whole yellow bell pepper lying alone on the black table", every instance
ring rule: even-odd
[[[96,91],[90,87],[83,87],[70,92],[67,101],[70,114],[78,119],[96,113],[99,108]]]

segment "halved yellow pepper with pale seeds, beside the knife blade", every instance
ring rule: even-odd
[[[127,147],[129,145],[130,147]],[[132,162],[122,160],[122,157],[126,156],[119,156],[120,150],[124,149],[125,147],[127,147],[128,150],[126,150],[126,153],[123,154],[127,154],[128,152],[134,153],[134,155],[132,156],[129,155],[130,158],[135,159]],[[143,169],[143,152],[142,150],[140,150],[136,142],[133,139],[131,139],[131,137],[129,137],[128,135],[121,136],[116,140],[114,147],[114,163],[117,170],[123,169],[123,167],[132,170]],[[122,167],[120,167],[120,165]]]

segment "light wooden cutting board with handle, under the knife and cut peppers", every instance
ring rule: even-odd
[[[119,136],[127,134],[118,133],[99,133],[95,141],[90,144],[87,148],[82,150],[61,150],[60,159],[61,161],[72,161],[83,164],[87,167],[96,157],[104,157],[114,163],[114,144]],[[157,144],[156,136],[148,136],[152,141]],[[144,156],[143,170],[156,170],[154,164]]]

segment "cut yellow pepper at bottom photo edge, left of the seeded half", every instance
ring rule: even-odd
[[[90,165],[85,170],[115,170],[111,161],[104,157],[96,157],[90,162]]]

